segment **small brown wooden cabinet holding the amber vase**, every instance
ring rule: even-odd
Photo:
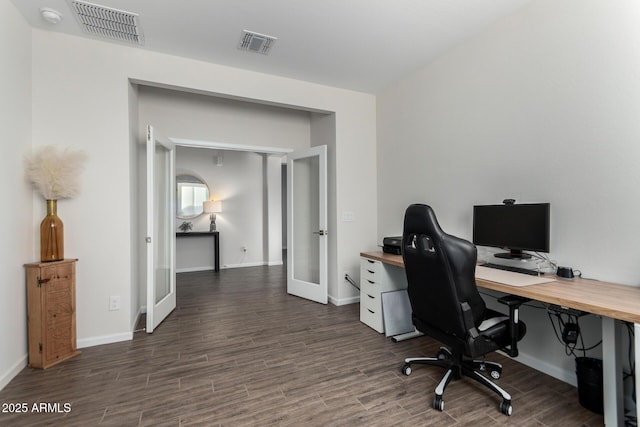
[[[48,368],[76,350],[76,261],[25,264],[29,366]]]

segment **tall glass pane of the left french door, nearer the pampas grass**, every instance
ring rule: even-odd
[[[169,150],[155,144],[155,182],[154,215],[155,215],[155,296],[156,303],[171,292],[171,177],[169,176]]]

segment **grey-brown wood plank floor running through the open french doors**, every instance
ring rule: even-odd
[[[0,403],[26,403],[28,411],[0,413],[0,425],[603,424],[579,405],[575,388],[498,354],[490,359],[504,365],[499,383],[513,397],[513,416],[468,380],[452,383],[445,411],[435,411],[442,371],[417,366],[406,377],[400,367],[404,357],[435,354],[436,342],[393,343],[359,322],[358,304],[287,295],[284,275],[282,267],[179,274],[178,308],[154,334],[85,348],[44,371],[24,369]],[[34,403],[60,408],[38,413]]]

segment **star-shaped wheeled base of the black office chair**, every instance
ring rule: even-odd
[[[413,364],[438,366],[446,369],[444,376],[435,389],[435,396],[432,403],[433,409],[438,411],[444,410],[443,395],[445,388],[452,380],[458,380],[465,376],[488,387],[502,397],[500,412],[505,415],[511,415],[513,412],[511,395],[481,373],[489,372],[491,378],[499,379],[502,375],[502,365],[499,363],[473,359],[465,360],[461,355],[454,355],[449,349],[440,347],[435,357],[409,357],[404,359],[402,373],[407,376],[411,375],[411,365]]]

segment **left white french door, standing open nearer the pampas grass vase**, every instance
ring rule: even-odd
[[[175,147],[147,126],[147,333],[176,308]]]

